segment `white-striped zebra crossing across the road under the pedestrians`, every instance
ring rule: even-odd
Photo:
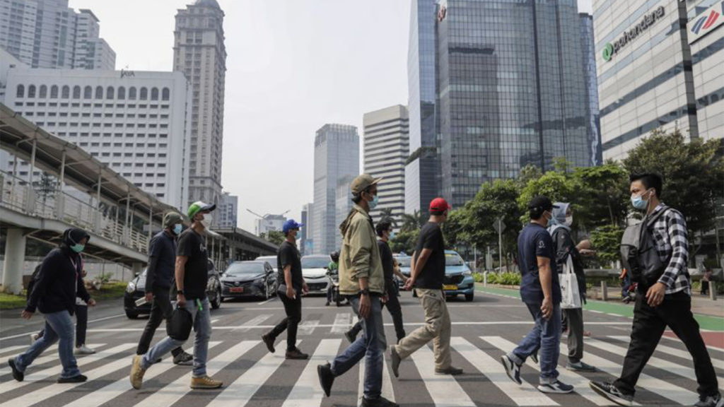
[[[266,318],[261,316],[255,324]],[[352,322],[341,316],[335,326]],[[340,332],[340,329],[336,329]],[[423,347],[400,366],[400,378],[392,376],[389,352],[385,354],[382,395],[397,403],[429,406],[612,406],[594,393],[590,379],[613,379],[621,372],[628,337],[610,335],[586,340],[584,360],[601,372],[581,374],[559,366],[560,379],[576,388],[571,395],[546,395],[536,390],[539,366],[526,361],[523,385],[516,385],[505,374],[500,356],[515,347],[519,337],[452,337],[453,364],[466,374],[450,377],[434,374],[432,347]],[[363,394],[363,361],[337,377],[332,397],[326,398],[319,385],[317,365],[331,361],[347,342],[336,338],[302,338],[300,347],[311,351],[308,361],[286,361],[283,352],[268,353],[261,340],[224,340],[209,343],[207,372],[224,380],[219,390],[192,390],[190,368],[175,366],[164,358],[148,369],[141,390],[132,390],[128,373],[135,343],[95,343],[97,353],[77,358],[89,378],[77,384],[56,384],[60,366],[54,353],[44,353],[30,366],[24,382],[15,382],[7,369],[0,372],[0,407],[61,406],[95,407],[113,405],[161,406],[279,406],[316,407],[335,403],[352,405]],[[189,344],[190,345],[190,344]],[[12,356],[24,347],[0,348],[0,355]],[[190,351],[190,349],[188,350]],[[565,364],[565,344],[561,344],[561,364]],[[710,352],[724,390],[724,352]],[[243,367],[242,367],[243,366]],[[650,404],[690,405],[694,403],[696,381],[691,356],[681,343],[660,345],[638,383],[637,406]],[[673,404],[672,404],[673,403]]]

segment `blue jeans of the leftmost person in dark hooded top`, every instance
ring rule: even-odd
[[[35,358],[58,341],[58,356],[60,356],[60,363],[63,365],[63,372],[60,377],[76,377],[80,374],[80,370],[78,370],[78,364],[75,361],[75,356],[73,356],[75,327],[73,327],[70,312],[59,311],[44,316],[46,324],[43,328],[45,331],[43,336],[36,340],[33,345],[30,345],[25,353],[15,357],[15,366],[20,372],[25,372],[25,369],[33,363]]]

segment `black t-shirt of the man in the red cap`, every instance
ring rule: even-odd
[[[429,248],[432,253],[418,275],[415,286],[429,290],[442,290],[442,282],[445,280],[445,242],[442,238],[442,230],[437,223],[427,222],[420,230],[415,249],[416,263],[424,248]]]

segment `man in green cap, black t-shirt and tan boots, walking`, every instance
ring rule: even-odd
[[[209,298],[206,298],[206,282],[209,280],[209,257],[206,254],[206,238],[204,232],[211,224],[209,212],[216,209],[214,204],[196,201],[188,209],[191,227],[182,232],[177,248],[175,277],[176,306],[185,309],[193,319],[195,340],[193,343],[193,374],[192,389],[216,389],[223,383],[211,379],[206,374],[206,359],[209,356],[209,338],[211,337],[211,314],[209,314]],[[172,349],[178,348],[185,340],[166,337],[156,343],[148,352],[133,357],[130,381],[134,389],[143,384],[143,374],[151,364]]]

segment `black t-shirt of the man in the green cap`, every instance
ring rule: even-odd
[[[181,233],[177,256],[187,256],[184,267],[183,292],[187,299],[206,298],[206,283],[209,281],[209,256],[206,253],[206,239],[193,229]]]

